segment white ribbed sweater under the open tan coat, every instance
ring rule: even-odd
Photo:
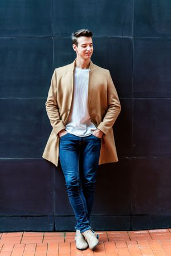
[[[80,137],[91,135],[96,129],[88,113],[88,80],[89,68],[75,67],[74,95],[66,130]]]

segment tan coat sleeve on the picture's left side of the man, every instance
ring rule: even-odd
[[[60,119],[58,104],[57,104],[57,80],[56,80],[56,68],[54,74],[52,75],[50,89],[48,91],[47,101],[45,103],[46,111],[50,123],[54,129],[55,135],[65,129],[63,121]]]

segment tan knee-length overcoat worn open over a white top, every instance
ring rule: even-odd
[[[52,131],[43,152],[43,158],[58,166],[59,136],[65,128],[71,111],[74,90],[74,69],[71,64],[55,68],[46,101],[46,111]],[[88,83],[89,116],[96,128],[104,132],[99,164],[117,162],[117,153],[112,126],[120,113],[120,101],[110,72],[90,62]]]

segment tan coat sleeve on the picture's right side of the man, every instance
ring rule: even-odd
[[[119,97],[116,92],[115,85],[113,84],[111,74],[108,71],[108,88],[107,88],[107,99],[108,99],[108,109],[105,113],[104,119],[100,122],[97,129],[100,129],[104,136],[106,136],[109,130],[115,123],[117,116],[121,111],[121,105]]]

